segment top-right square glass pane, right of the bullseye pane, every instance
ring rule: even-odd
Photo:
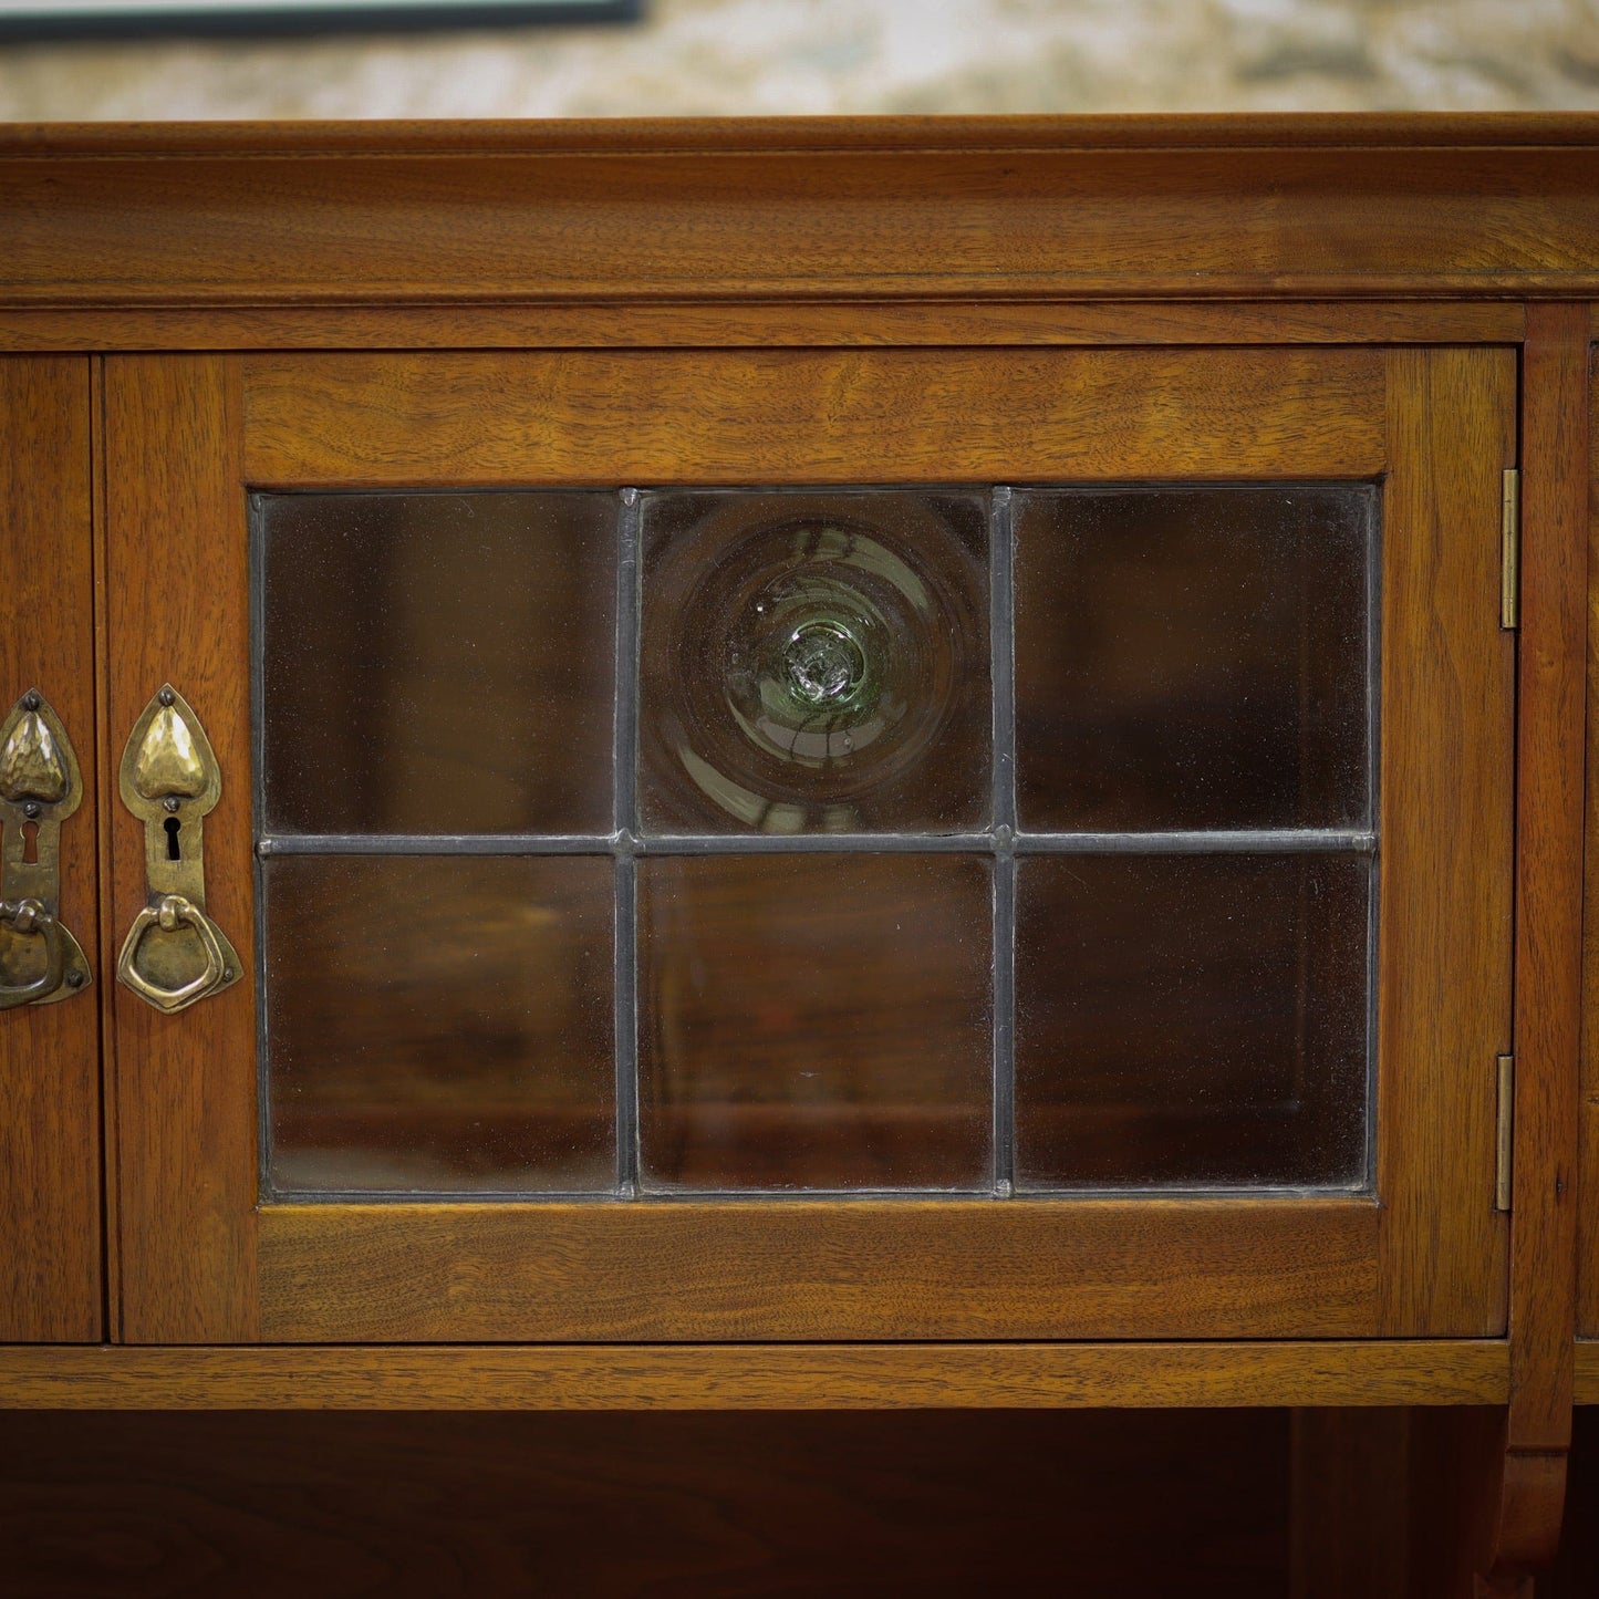
[[[1374,521],[1366,486],[1019,492],[1022,827],[1364,825]]]

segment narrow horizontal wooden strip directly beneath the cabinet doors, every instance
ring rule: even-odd
[[[1599,1398],[1599,1359],[1589,1372]],[[19,1410],[1142,1409],[1508,1396],[1501,1340],[0,1348],[0,1409]]]

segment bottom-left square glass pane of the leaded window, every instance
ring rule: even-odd
[[[264,865],[278,1190],[611,1190],[608,859]]]

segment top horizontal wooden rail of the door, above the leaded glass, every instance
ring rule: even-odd
[[[256,484],[1374,477],[1382,363],[1375,350],[254,355],[245,462]]]

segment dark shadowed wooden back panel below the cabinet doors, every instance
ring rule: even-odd
[[[1281,1599],[1289,1503],[1274,1410],[0,1418],[10,1599]]]

